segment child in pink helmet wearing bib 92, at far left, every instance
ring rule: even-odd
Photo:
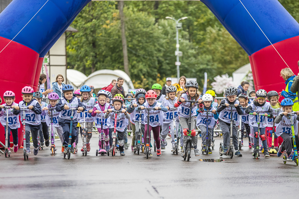
[[[19,149],[18,145],[18,128],[21,127],[20,121],[19,121],[19,115],[13,115],[13,108],[15,106],[18,106],[17,103],[15,103],[15,94],[14,92],[8,90],[5,91],[3,94],[3,99],[5,101],[4,104],[0,105],[0,111],[5,112],[6,109],[3,109],[4,107],[11,107],[11,109],[8,109],[8,113],[4,113],[1,118],[1,124],[4,127],[4,130],[6,131],[6,117],[8,114],[8,151],[10,152],[10,131],[13,134],[13,152],[17,152]],[[3,110],[2,110],[3,109]]]

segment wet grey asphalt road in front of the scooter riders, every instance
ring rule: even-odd
[[[295,194],[297,198],[299,167],[293,162],[283,164],[282,157],[274,155],[264,158],[261,154],[255,160],[247,138],[242,158],[199,161],[220,158],[222,139],[217,138],[213,154],[195,157],[192,151],[187,162],[170,151],[170,138],[160,157],[152,150],[153,156],[147,160],[130,148],[125,150],[126,156],[96,157],[97,136],[91,139],[87,157],[78,152],[70,160],[63,158],[60,141],[56,141],[54,156],[48,147],[37,156],[31,153],[28,161],[24,161],[22,149],[9,158],[1,155],[1,198],[286,198]]]

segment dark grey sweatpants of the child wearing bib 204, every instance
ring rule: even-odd
[[[219,124],[221,127],[221,130],[223,132],[223,146],[224,147],[228,147],[229,146],[229,142],[230,142],[230,138],[231,138],[231,126],[227,125],[225,122],[219,120]],[[238,150],[238,132],[237,132],[237,127],[236,124],[233,124],[233,144],[234,144],[234,148],[235,150]]]

